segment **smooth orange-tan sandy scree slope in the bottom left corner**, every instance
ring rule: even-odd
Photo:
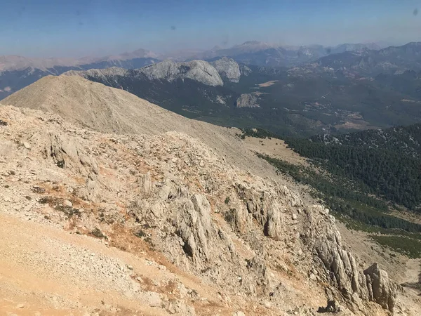
[[[174,266],[163,268],[149,254],[142,258],[1,212],[0,239],[0,315],[169,315],[145,303],[148,292],[136,291],[145,289],[135,277],[174,279],[210,303],[218,300],[215,289]]]

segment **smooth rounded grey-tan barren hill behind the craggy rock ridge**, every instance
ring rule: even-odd
[[[227,129],[187,119],[127,91],[94,83],[79,76],[48,76],[1,100],[1,104],[59,114],[72,123],[103,133],[155,135],[179,131],[198,138],[224,156],[229,164],[276,176],[272,166],[258,159]]]

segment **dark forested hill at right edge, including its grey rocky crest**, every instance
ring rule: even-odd
[[[288,138],[286,143],[329,173],[347,178],[364,195],[421,211],[421,124]]]

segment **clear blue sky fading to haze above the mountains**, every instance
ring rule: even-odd
[[[421,0],[1,0],[0,55],[421,41]]]

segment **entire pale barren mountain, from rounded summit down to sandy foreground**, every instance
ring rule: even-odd
[[[6,315],[420,315],[238,130],[81,77],[35,85],[0,107]]]

